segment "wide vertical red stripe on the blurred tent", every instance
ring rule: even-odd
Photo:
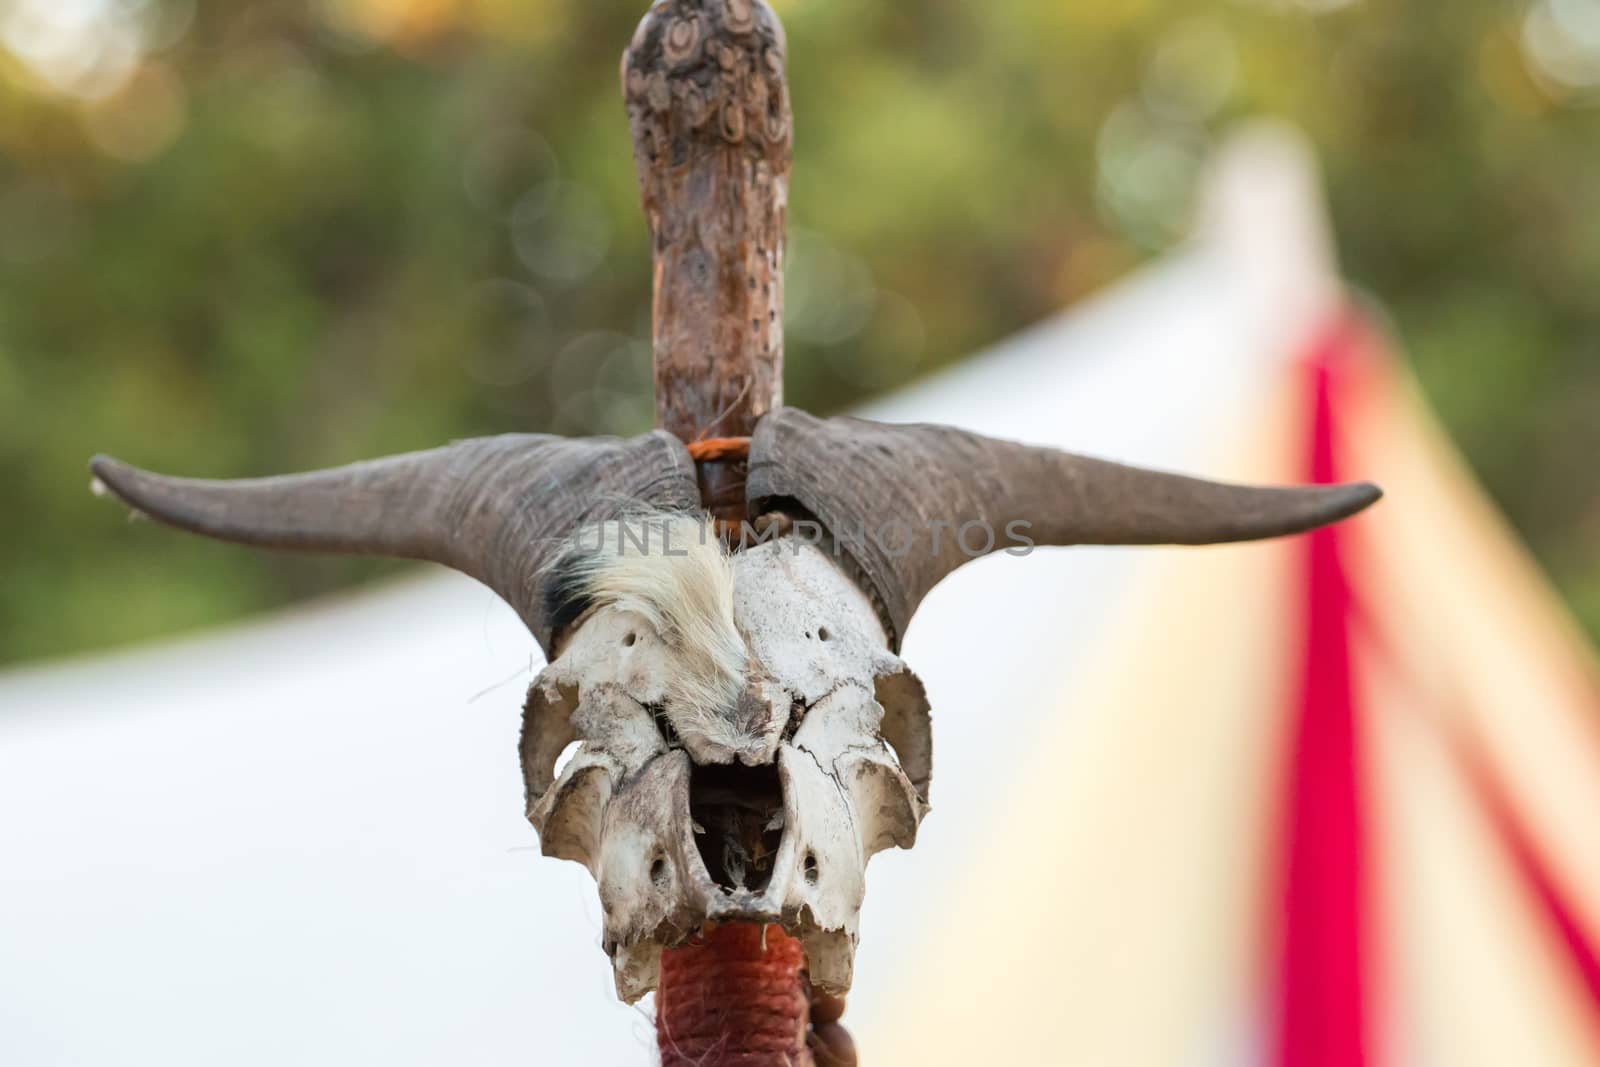
[[[1312,352],[1309,480],[1336,482],[1334,389],[1358,339],[1341,320]],[[1366,1064],[1365,840],[1341,528],[1304,539],[1306,645],[1283,825],[1278,1067]]]

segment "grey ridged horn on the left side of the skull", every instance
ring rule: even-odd
[[[451,566],[515,608],[547,654],[546,577],[566,537],[637,507],[699,504],[694,462],[664,430],[627,440],[507,434],[238,482],[170,478],[109,456],[90,470],[136,510],[208,537]]]

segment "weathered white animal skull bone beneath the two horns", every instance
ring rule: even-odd
[[[704,531],[662,528],[677,542]],[[691,555],[707,550],[722,552],[702,537]],[[682,635],[616,603],[589,611],[528,693],[528,817],[547,856],[595,877],[629,1001],[656,987],[662,947],[725,921],[782,925],[811,982],[845,992],[867,859],[910,848],[928,809],[928,702],[861,590],[794,537],[731,557],[726,576],[747,659],[736,699],[710,720],[672,699]]]

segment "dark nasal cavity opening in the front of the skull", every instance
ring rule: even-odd
[[[712,881],[725,893],[766,888],[784,838],[784,789],[776,763],[694,766],[690,816]]]

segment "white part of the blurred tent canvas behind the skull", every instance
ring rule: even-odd
[[[1235,141],[1206,206],[1189,248],[864,414],[1203,472],[1338,291],[1293,136]],[[1162,555],[995,557],[918,614],[934,811],[869,870],[866,1062],[896,1062],[898,969],[960,936],[944,889],[1008,814],[998,739],[1053,734],[1074,656]],[[0,1062],[653,1062],[589,875],[522,817],[536,669],[488,590],[430,573],[0,675]],[[994,907],[1014,893],[997,872]]]

